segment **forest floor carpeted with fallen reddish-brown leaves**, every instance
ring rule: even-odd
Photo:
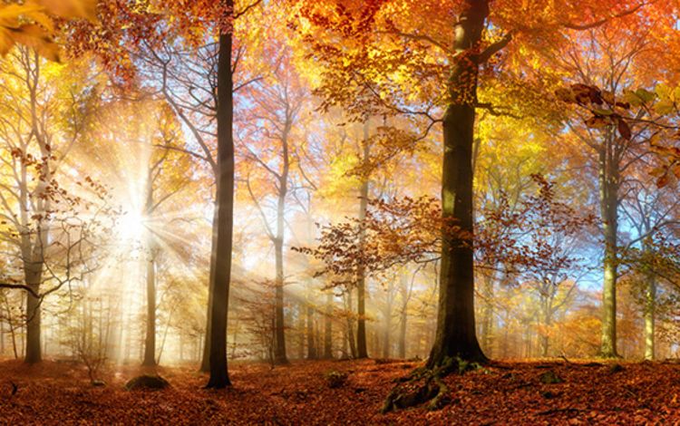
[[[202,389],[207,377],[193,370],[160,367],[169,388],[126,391],[128,379],[147,371],[122,367],[93,387],[79,364],[5,361],[0,424],[680,424],[680,364],[616,365],[495,362],[450,375],[442,410],[381,414],[393,380],[419,363],[241,363],[230,366],[234,386],[222,391]],[[329,372],[346,373],[345,382],[330,387]],[[563,382],[545,383],[549,372]]]

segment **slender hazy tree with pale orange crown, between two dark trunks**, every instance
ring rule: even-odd
[[[296,191],[304,183],[302,164],[305,150],[305,135],[296,128],[303,128],[301,109],[306,102],[306,88],[290,69],[289,52],[273,56],[272,72],[265,79],[251,84],[246,89],[241,111],[247,121],[248,131],[241,148],[246,159],[259,169],[259,179],[248,174],[248,194],[257,207],[267,237],[274,245],[276,259],[276,328],[275,363],[288,363],[284,324],[284,246],[286,244],[286,213],[289,197],[296,197]],[[258,146],[257,140],[265,141]],[[264,173],[264,178],[261,176]],[[300,175],[300,177],[296,177]],[[297,182],[296,181],[301,181]],[[254,187],[271,187],[276,196],[275,224],[271,225],[263,207],[267,193],[258,193]]]

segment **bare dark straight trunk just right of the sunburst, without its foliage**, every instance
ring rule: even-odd
[[[233,11],[233,0],[225,0]],[[230,12],[231,13],[231,12]],[[234,228],[234,122],[233,75],[231,68],[232,29],[219,34],[218,60],[218,237],[216,263],[210,276],[210,378],[209,388],[224,388],[231,383],[227,371],[227,319],[231,280],[231,247]]]

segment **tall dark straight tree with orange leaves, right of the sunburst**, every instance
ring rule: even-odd
[[[184,151],[209,161],[216,180],[213,244],[210,254],[208,336],[205,346],[205,354],[209,359],[210,378],[207,384],[209,388],[224,388],[230,384],[227,369],[227,317],[235,184],[233,111],[234,91],[240,87],[235,86],[234,75],[238,70],[239,59],[244,53],[238,44],[238,37],[235,37],[235,29],[238,28],[239,18],[250,15],[248,13],[260,3],[259,0],[254,0],[252,3],[236,5],[233,0],[220,2],[202,0],[192,2],[190,5],[166,4],[159,10],[148,3],[138,5],[137,2],[122,4],[116,2],[108,5],[100,14],[102,26],[111,28],[112,31],[93,32],[91,26],[82,25],[76,28],[71,38],[74,52],[98,53],[114,75],[118,74],[119,77],[128,80],[126,83],[133,80],[137,73],[131,57],[144,47],[151,50],[162,48],[164,41],[176,39],[194,47],[206,39],[217,42],[217,49],[215,55],[210,58],[211,61],[201,64],[207,66],[209,70],[206,73],[210,77],[208,89],[203,88],[200,95],[196,95],[195,92],[193,96],[190,94],[191,99],[198,102],[200,109],[211,111],[209,116],[215,118],[217,127],[217,131],[213,133],[215,146],[209,146],[201,139],[204,131],[202,129],[195,131],[197,129],[195,123],[189,121],[181,106],[178,108],[177,103],[173,105],[180,119],[187,123],[189,129],[194,130],[193,134],[203,150],[202,154],[192,153],[186,149]],[[164,15],[159,15],[158,12]],[[136,25],[128,25],[129,21],[134,21]],[[121,52],[121,49],[102,48],[120,45],[120,42],[129,44],[131,49]],[[158,63],[164,76],[161,83],[166,83],[168,62],[159,55],[156,57],[160,59]],[[161,85],[161,88],[170,102],[171,96],[168,96],[168,91],[171,88],[166,85]],[[189,92],[192,89],[193,86],[189,87]]]

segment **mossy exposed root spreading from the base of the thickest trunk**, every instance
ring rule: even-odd
[[[435,368],[420,367],[406,377],[397,379],[392,392],[387,395],[381,412],[403,410],[427,403],[428,410],[440,410],[450,402],[449,387],[443,378],[450,373],[463,374],[480,368],[459,358],[446,358]]]

